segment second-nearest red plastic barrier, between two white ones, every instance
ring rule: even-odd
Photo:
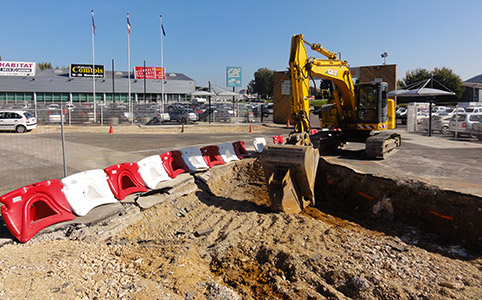
[[[122,200],[127,195],[137,192],[147,192],[147,188],[142,181],[137,163],[122,163],[105,168],[107,173],[107,183],[112,194]]]

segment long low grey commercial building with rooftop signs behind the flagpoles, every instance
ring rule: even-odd
[[[72,76],[72,68],[40,71],[35,63],[0,61],[0,104],[35,105],[59,102],[93,103],[92,68],[90,76]],[[97,69],[97,66],[96,66]],[[128,102],[128,72],[96,70],[97,102]],[[132,103],[160,102],[161,79],[139,79],[131,74]],[[148,76],[146,76],[148,77]],[[164,95],[167,102],[190,100],[195,81],[181,73],[167,73]],[[32,105],[33,106],[33,105]]]

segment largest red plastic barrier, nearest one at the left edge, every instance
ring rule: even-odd
[[[60,180],[47,180],[16,189],[0,197],[8,230],[22,243],[55,223],[73,220]]]

